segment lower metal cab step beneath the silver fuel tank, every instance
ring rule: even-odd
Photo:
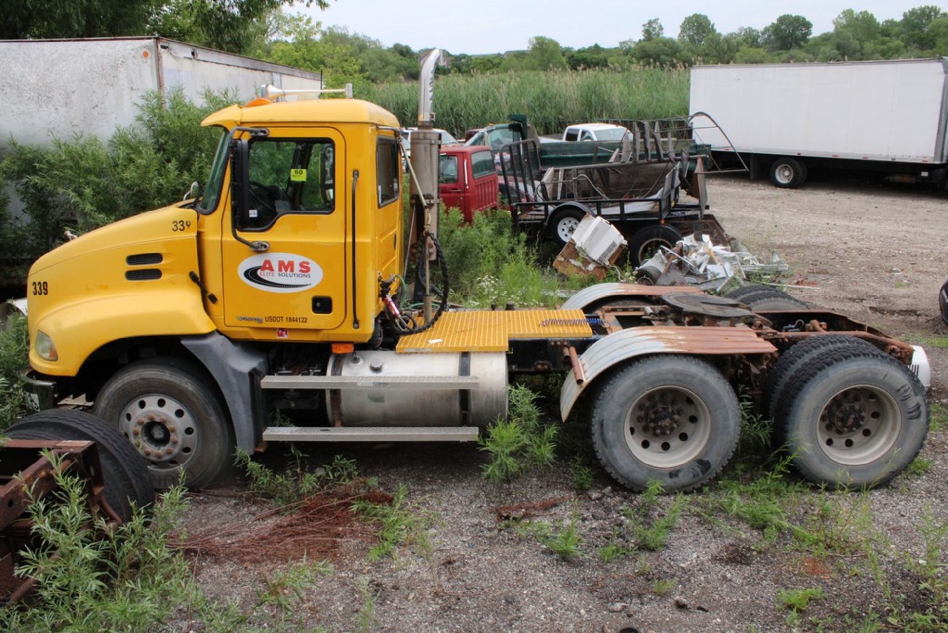
[[[466,442],[480,434],[476,426],[270,426],[264,441]]]

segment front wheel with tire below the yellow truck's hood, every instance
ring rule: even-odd
[[[228,466],[233,439],[224,407],[192,363],[130,363],[102,386],[95,411],[131,441],[155,488],[173,486],[183,470],[185,485],[198,490]]]

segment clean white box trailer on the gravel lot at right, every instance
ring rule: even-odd
[[[946,73],[948,58],[695,66],[689,109],[723,130],[702,133],[715,158],[737,153],[777,187],[803,184],[809,167],[944,186]]]

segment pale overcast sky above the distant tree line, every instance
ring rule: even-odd
[[[678,37],[684,16],[707,15],[721,32],[764,28],[783,13],[803,15],[813,34],[832,29],[843,9],[868,10],[880,20],[931,0],[330,0],[330,7],[298,8],[324,26],[341,25],[380,40],[386,47],[407,44],[441,47],[452,53],[495,53],[527,47],[534,35],[552,37],[564,47],[598,44],[615,47],[639,39],[642,25],[659,18],[665,35]]]

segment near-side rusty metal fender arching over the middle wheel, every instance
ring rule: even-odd
[[[594,287],[593,287],[594,288]],[[650,287],[645,287],[650,288]],[[749,327],[630,327],[599,339],[579,356],[581,376],[571,373],[559,392],[559,413],[565,422],[579,396],[603,372],[627,361],[650,354],[770,354],[776,347],[757,336]]]

